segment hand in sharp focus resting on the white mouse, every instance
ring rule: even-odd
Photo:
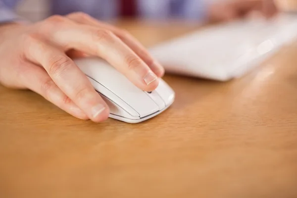
[[[73,13],[0,26],[0,83],[32,90],[77,118],[104,121],[107,104],[70,58],[85,54],[105,59],[144,91],[153,91],[164,74],[126,31]]]

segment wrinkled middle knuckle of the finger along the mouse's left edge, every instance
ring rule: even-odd
[[[60,76],[67,71],[72,65],[70,58],[64,55],[54,56],[49,60],[49,74]]]

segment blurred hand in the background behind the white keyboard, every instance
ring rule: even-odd
[[[274,0],[224,0],[211,4],[208,16],[211,21],[230,21],[254,11],[269,18],[274,16],[278,9]]]

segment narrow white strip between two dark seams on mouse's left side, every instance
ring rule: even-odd
[[[134,110],[131,106],[129,106],[126,102],[124,102],[122,99],[117,97],[114,93],[110,92],[108,89],[106,89],[103,85],[95,81],[94,79],[87,76],[90,80],[91,84],[93,85],[94,89],[99,92],[100,95],[104,95],[108,97],[108,99],[112,100],[115,104],[121,106],[125,111],[127,111],[131,116],[133,117],[140,117],[140,114]]]

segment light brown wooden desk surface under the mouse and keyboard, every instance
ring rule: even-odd
[[[195,28],[121,25],[146,46]],[[0,197],[296,198],[296,62],[293,44],[232,82],[166,75],[176,101],[141,124],[0,87]]]

